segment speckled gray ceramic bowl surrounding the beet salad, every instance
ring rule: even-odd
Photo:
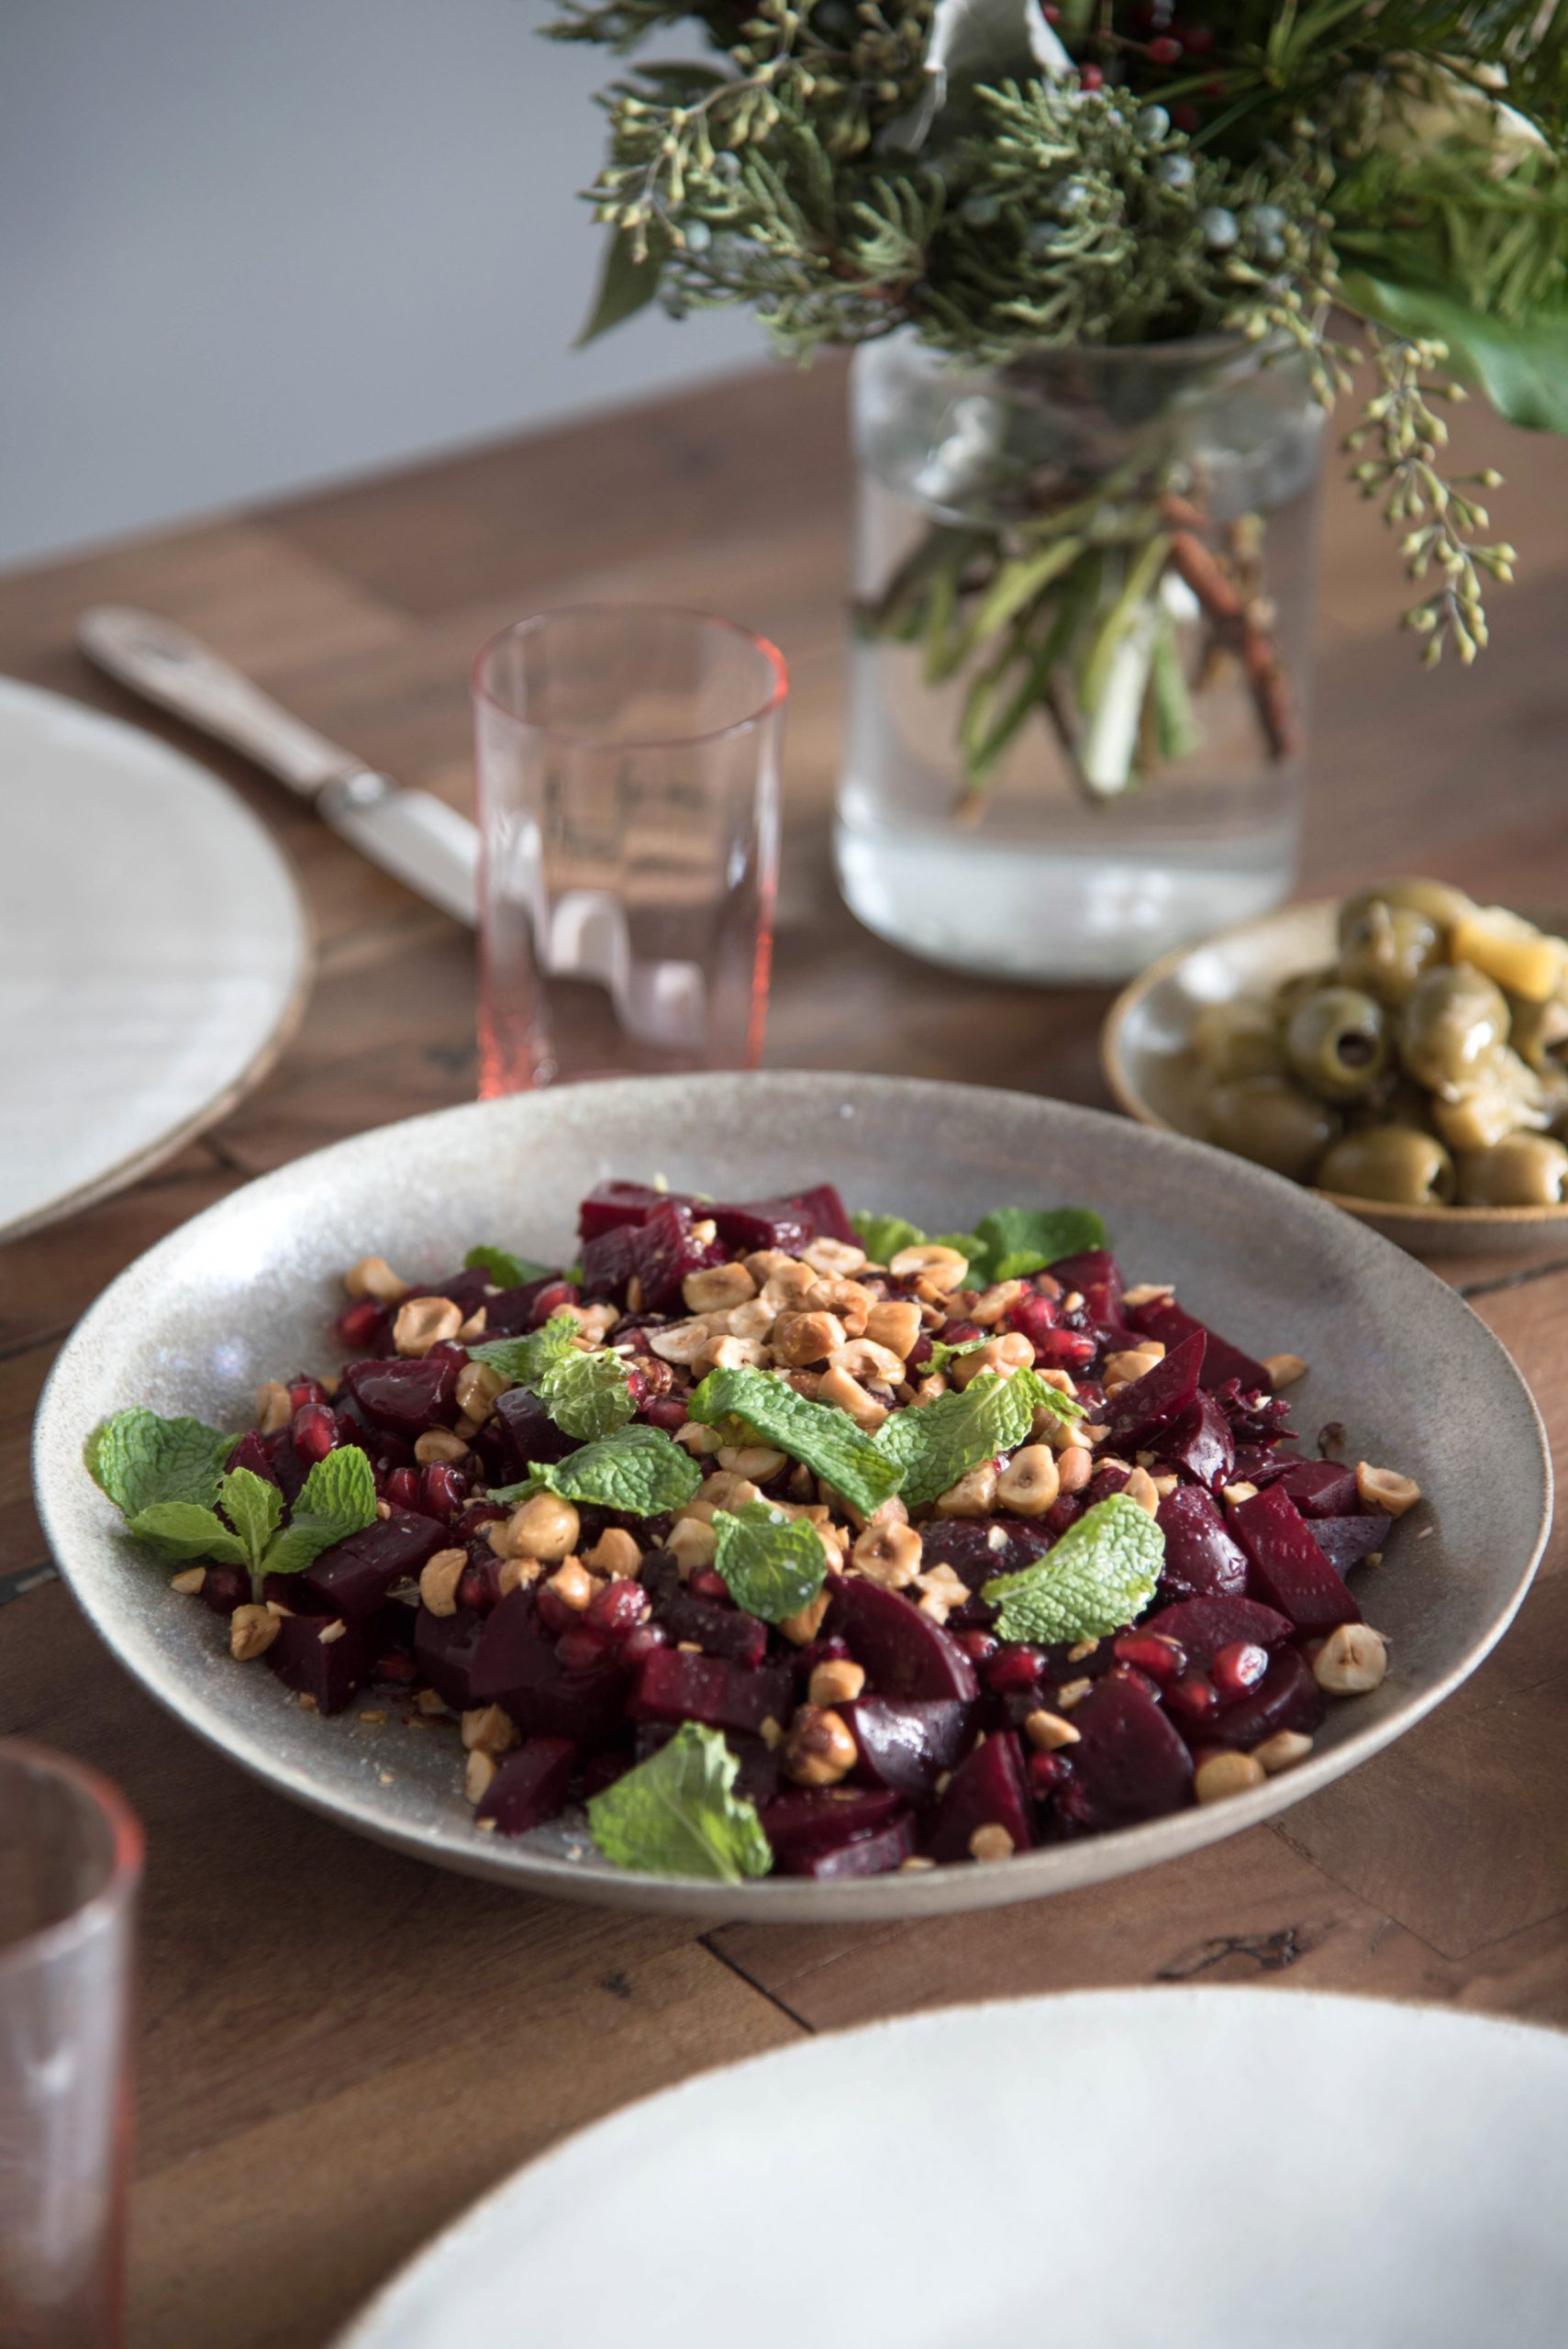
[[[1138,1280],[1253,1353],[1300,1353],[1310,1435],[1343,1419],[1359,1454],[1415,1475],[1430,1506],[1359,1576],[1392,1670],[1336,1705],[1317,1750],[1256,1792],[1002,1867],[859,1884],[718,1889],[606,1867],[568,1828],[479,1835],[455,1743],[352,1712],[300,1712],[223,1626],[138,1557],[82,1468],[127,1402],[246,1426],[261,1379],[324,1362],[338,1276],[366,1252],[448,1271],[474,1240],[575,1250],[577,1198],[606,1174],[761,1198],[833,1179],[850,1205],[953,1231],[1000,1203],[1103,1210]],[[922,1917],[1099,1884],[1300,1802],[1430,1712],[1500,1637],[1547,1539],[1540,1416],[1502,1346],[1411,1257],[1275,1174],[1174,1135],[1021,1092],[871,1076],[697,1076],[563,1088],[448,1109],[340,1142],[249,1184],[148,1250],[75,1330],[38,1412],[38,1499],[54,1555],[120,1661],[197,1736],[279,1792],[444,1867],[617,1907],[779,1921]],[[1430,1532],[1422,1536],[1422,1529]]]

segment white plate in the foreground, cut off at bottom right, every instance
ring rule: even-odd
[[[709,2072],[458,2220],[338,2349],[1561,2349],[1568,2039],[1134,1990]]]

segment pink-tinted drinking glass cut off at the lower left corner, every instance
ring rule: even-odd
[[[120,2349],[141,1828],[0,1741],[0,2342]]]

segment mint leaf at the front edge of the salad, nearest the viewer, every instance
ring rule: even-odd
[[[772,1846],[756,1804],[735,1792],[739,1759],[718,1729],[683,1722],[669,1745],[589,1797],[589,1835],[606,1860],[657,1877],[765,1877]]]

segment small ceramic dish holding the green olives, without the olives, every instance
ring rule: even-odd
[[[1106,1083],[1129,1118],[1174,1135],[1204,1135],[1192,1064],[1192,1022],[1211,1003],[1268,1001],[1282,980],[1322,970],[1336,954],[1336,897],[1216,930],[1178,947],[1124,987],[1101,1029]],[[1322,1191],[1336,1207],[1422,1257],[1540,1247],[1568,1240],[1568,1200],[1554,1207],[1392,1207],[1350,1191]]]

